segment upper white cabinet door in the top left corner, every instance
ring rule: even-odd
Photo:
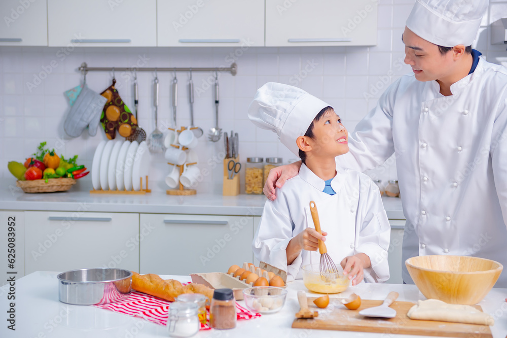
[[[0,46],[47,46],[46,0],[0,2]]]

